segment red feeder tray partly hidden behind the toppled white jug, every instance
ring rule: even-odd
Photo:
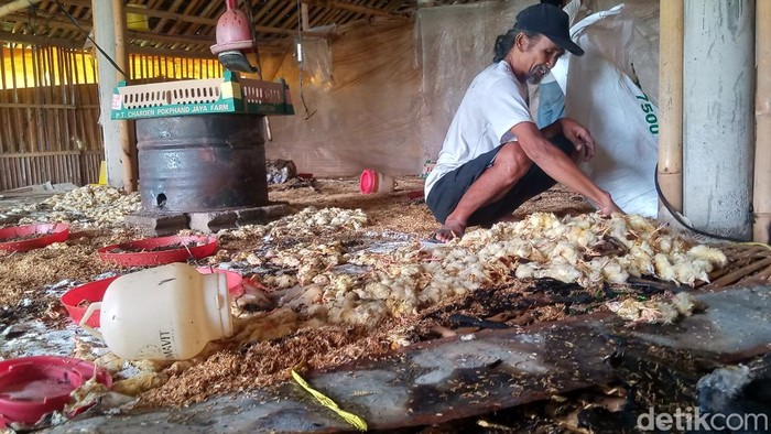
[[[243,295],[243,285],[241,274],[235,271],[227,271],[221,269],[211,269],[209,267],[199,267],[196,270],[200,274],[224,273],[225,279],[228,282],[228,291],[234,297]],[[107,287],[112,283],[113,280],[120,278],[115,275],[112,278],[107,278],[102,280],[97,280],[90,283],[86,283],[79,286],[75,286],[64,294],[62,294],[62,304],[69,313],[69,317],[73,318],[75,324],[80,324],[83,315],[86,314],[88,305],[91,303],[100,302],[105,297]],[[86,303],[84,303],[86,302]],[[95,311],[94,314],[86,322],[87,325],[98,328],[99,327],[99,310]]]

